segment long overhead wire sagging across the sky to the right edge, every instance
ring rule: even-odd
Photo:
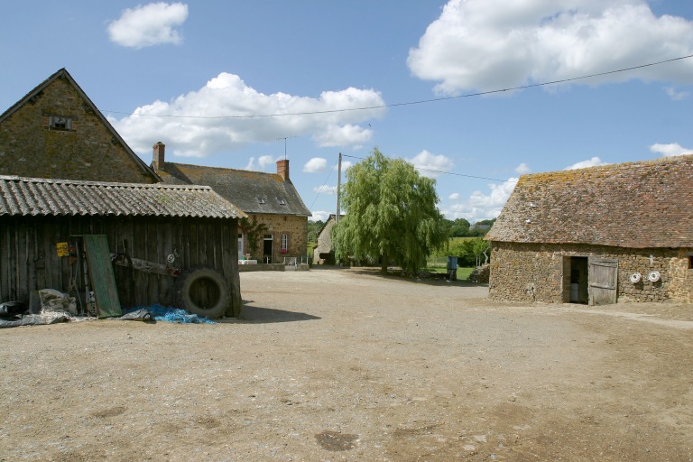
[[[333,114],[333,113],[350,112],[350,111],[369,111],[369,110],[373,110],[373,109],[386,109],[388,107],[422,105],[422,104],[426,104],[426,103],[435,103],[438,101],[447,101],[449,99],[459,99],[459,98],[463,98],[463,97],[483,97],[485,95],[494,95],[495,93],[504,93],[506,91],[516,91],[516,90],[523,90],[523,89],[527,89],[527,88],[545,87],[548,85],[556,85],[559,83],[574,82],[576,80],[594,79],[596,77],[602,77],[602,76],[607,76],[607,75],[611,75],[611,74],[617,74],[619,72],[626,72],[628,70],[649,68],[651,66],[659,66],[661,64],[666,64],[668,62],[673,62],[673,61],[678,61],[678,60],[688,60],[688,58],[693,58],[693,54],[689,54],[688,56],[680,56],[679,58],[671,58],[670,60],[661,60],[661,61],[656,61],[656,62],[650,62],[647,64],[641,64],[639,66],[633,66],[630,68],[607,70],[605,72],[597,72],[595,74],[589,74],[587,76],[572,77],[569,79],[550,80],[547,82],[522,85],[522,86],[518,86],[518,87],[502,88],[502,89],[496,89],[496,90],[479,91],[476,93],[466,93],[464,95],[457,95],[456,97],[435,97],[435,98],[430,98],[430,99],[420,99],[418,101],[407,101],[407,102],[403,102],[403,103],[393,103],[390,105],[350,107],[350,108],[346,108],[346,109],[328,109],[325,111],[291,112],[291,113],[284,113],[284,114],[255,114],[255,115],[155,115],[155,114],[139,114],[139,113],[135,114],[135,113],[131,113],[131,112],[122,112],[122,111],[109,111],[107,109],[103,110],[102,112],[108,112],[108,113],[112,113],[112,114],[123,114],[123,115],[142,115],[145,117],[168,117],[168,118],[191,118],[191,119],[252,119],[252,118],[267,118],[267,117],[283,117],[283,116],[287,116],[287,115],[318,115],[318,114]]]

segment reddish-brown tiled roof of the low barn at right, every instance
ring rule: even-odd
[[[523,175],[486,240],[693,247],[693,155]]]

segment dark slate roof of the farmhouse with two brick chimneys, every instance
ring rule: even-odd
[[[233,200],[245,213],[300,217],[312,215],[291,181],[284,181],[278,173],[175,162],[165,162],[164,171],[160,170],[158,173],[164,182],[170,184],[211,186],[222,197]]]

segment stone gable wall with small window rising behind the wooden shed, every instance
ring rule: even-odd
[[[50,129],[50,117],[71,121]],[[0,174],[153,183],[67,79],[55,79],[0,124]]]

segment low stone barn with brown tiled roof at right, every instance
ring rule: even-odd
[[[693,302],[693,155],[523,175],[485,239],[489,295]]]

